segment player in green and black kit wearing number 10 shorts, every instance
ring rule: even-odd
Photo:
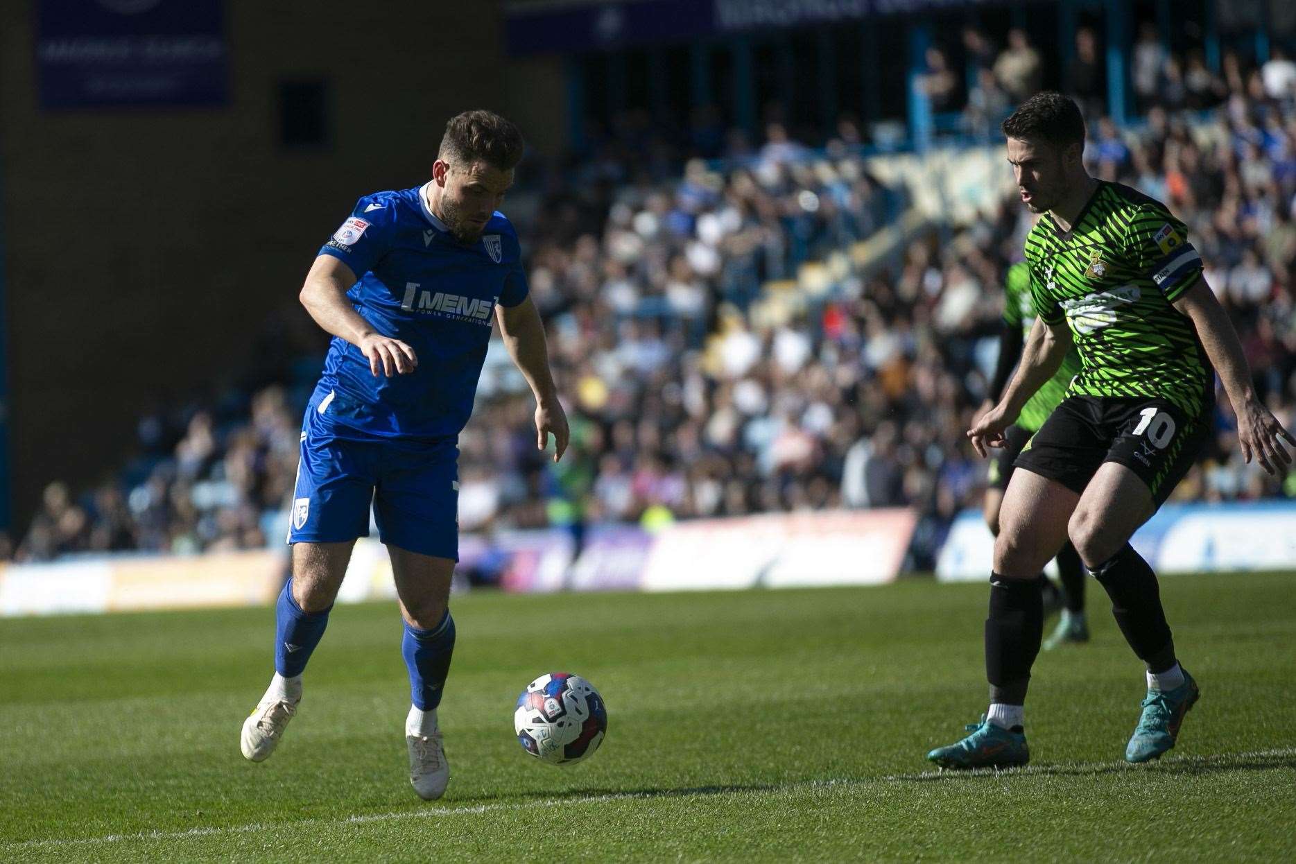
[[[1210,431],[1216,372],[1244,459],[1275,473],[1296,446],[1256,398],[1238,334],[1201,276],[1201,256],[1164,205],[1085,171],[1085,120],[1073,101],[1038,93],[1003,122],[1023,203],[1042,214],[1026,237],[1039,316],[999,404],[968,430],[982,456],[1002,447],[1026,399],[1068,348],[1081,370],[1023,448],[1003,497],[990,574],[985,665],[990,710],[928,759],[949,768],[1030,759],[1023,705],[1043,635],[1039,570],[1068,539],[1112,598],[1147,667],[1147,697],[1128,762],[1174,746],[1200,697],[1179,666],[1156,575],[1129,544],[1195,461]]]

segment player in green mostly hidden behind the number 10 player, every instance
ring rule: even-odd
[[[990,378],[986,403],[981,407],[978,416],[994,408],[1003,395],[1008,376],[1021,360],[1025,335],[1036,320],[1036,302],[1030,295],[1030,271],[1025,262],[1017,262],[1008,268],[1004,279],[1004,294],[999,358]],[[990,456],[984,513],[985,523],[995,536],[999,535],[999,506],[1003,504],[1003,492],[1008,488],[1008,481],[1012,479],[1012,464],[1030,437],[1039,431],[1045,420],[1067,395],[1067,387],[1077,374],[1080,374],[1080,354],[1072,346],[1054,377],[1026,400],[1017,422],[1004,430],[1003,447],[995,448]],[[1052,650],[1065,642],[1089,641],[1089,623],[1085,619],[1085,565],[1081,563],[1080,554],[1069,540],[1063,543],[1061,549],[1058,551],[1056,561],[1058,575],[1061,576],[1063,610],[1052,635],[1043,642],[1045,650]],[[1046,593],[1056,591],[1043,574],[1039,575],[1039,587]]]

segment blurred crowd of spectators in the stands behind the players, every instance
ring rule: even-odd
[[[927,88],[985,132],[1038,87],[1039,56],[1021,34],[999,53],[976,35],[964,47],[986,62],[959,96],[940,51]],[[1102,115],[1094,41],[1082,30],[1063,73],[1091,118],[1091,172],[1187,223],[1257,391],[1292,429],[1296,65],[1275,51],[1245,69],[1227,54],[1213,75],[1144,34],[1133,82],[1146,119],[1121,128]],[[579,170],[546,181],[544,218],[520,233],[572,451],[557,466],[535,452],[530,399],[492,358],[460,439],[463,530],[910,505],[924,517],[911,561],[921,567],[953,516],[978,505],[985,464],[963,430],[985,398],[1001,280],[1029,214],[1006,199],[975,224],[933,224],[893,266],[839,273],[822,299],[771,317],[767,282],[874,236],[907,206],[905,189],[870,174],[851,120],[811,150],[774,119],[759,149],[705,113],[684,148],[638,140],[627,123]],[[701,142],[730,159],[680,171],[683,155],[717,154]],[[315,358],[290,380],[259,376],[255,389],[141,418],[137,459],[96,488],[52,483],[16,557],[277,540],[270,514],[289,504]],[[1177,497],[1296,497],[1296,473],[1274,479],[1242,462],[1221,402],[1216,443]]]

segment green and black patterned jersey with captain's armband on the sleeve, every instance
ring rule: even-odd
[[[1214,400],[1214,369],[1172,303],[1201,279],[1201,256],[1166,207],[1100,183],[1063,232],[1045,214],[1026,236],[1036,312],[1067,321],[1081,370],[1068,394],[1164,398],[1190,416]]]

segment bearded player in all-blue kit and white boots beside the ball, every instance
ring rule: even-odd
[[[498,114],[452,118],[432,180],[360,198],[306,276],[302,304],[334,338],[302,426],[275,676],[242,725],[242,754],[253,762],[273,753],[297,714],[302,672],[351,547],[368,536],[372,505],[404,619],[410,781],[424,799],[446,790],[437,706],[455,648],[456,442],[472,413],[492,313],[535,395],[537,447],[552,434],[557,461],[568,446],[517,234],[496,210],[522,149],[517,127]]]

